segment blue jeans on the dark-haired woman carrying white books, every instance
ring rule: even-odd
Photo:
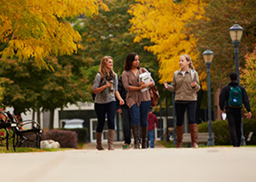
[[[138,106],[136,103],[130,108],[132,125],[140,124],[140,127],[148,126],[148,111],[151,105],[151,100],[143,101]]]

